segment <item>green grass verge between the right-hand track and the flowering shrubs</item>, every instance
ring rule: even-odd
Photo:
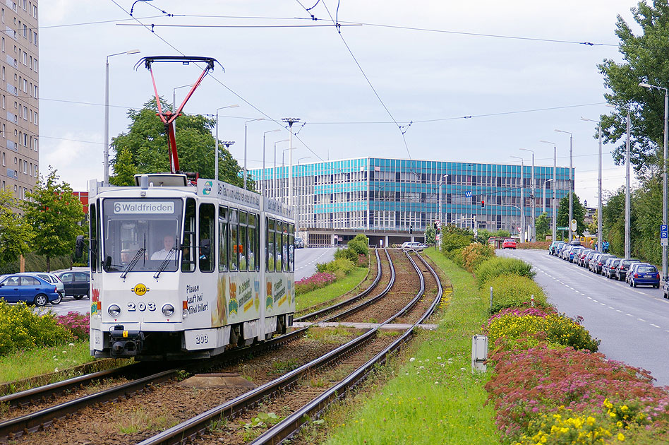
[[[328,411],[325,425],[305,432],[307,441],[327,428],[329,445],[500,443],[483,388],[488,374],[471,372],[471,336],[488,319],[485,295],[471,274],[433,248],[425,253],[454,288],[437,330],[421,331],[403,357],[378,372],[388,378],[385,386],[346,398]]]

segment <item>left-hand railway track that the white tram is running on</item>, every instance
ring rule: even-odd
[[[390,262],[390,256],[387,252],[386,255]],[[356,295],[358,299],[361,298],[360,295],[364,296],[370,294],[375,287],[378,286],[381,278],[381,266],[378,251],[376,251],[376,256],[377,263],[379,264],[377,277],[366,290],[361,292],[361,294]],[[392,268],[392,264],[390,267]],[[385,293],[390,290],[391,286],[392,282],[387,285],[385,291],[382,293],[385,295]],[[325,310],[327,311],[328,309],[328,312],[335,310],[330,308],[326,308]],[[239,362],[245,357],[257,357],[266,354],[268,351],[276,350],[277,348],[282,347],[282,345],[286,345],[287,343],[302,338],[307,330],[308,328],[301,328],[287,333],[284,336],[272,338],[271,340],[252,345],[248,348],[230,350],[221,357],[209,360],[205,364],[203,364],[203,362],[191,362],[186,365],[181,364],[181,366],[171,369],[164,367],[164,369],[160,369],[159,372],[155,372],[155,367],[160,365],[137,363],[126,367],[86,374],[55,384],[40,386],[39,388],[32,388],[27,391],[21,391],[20,393],[0,397],[0,403],[4,403],[8,408],[12,409],[26,407],[28,405],[49,405],[46,408],[41,408],[35,412],[1,421],[0,441],[17,439],[24,434],[46,429],[53,425],[54,422],[72,418],[75,413],[83,408],[114,403],[123,398],[133,397],[145,391],[150,391],[155,385],[164,381],[169,381],[170,379],[175,379],[176,376],[183,373],[192,374],[195,372],[202,372],[203,369],[212,369],[215,367],[222,367],[224,364]],[[76,393],[77,391],[85,390],[87,386],[108,381],[110,379],[127,378],[128,376],[131,376],[132,380],[126,383],[116,384],[102,391],[90,393],[82,397],[73,395],[73,393]],[[68,394],[71,395],[69,396],[71,400],[65,401],[64,403],[54,403],[58,398],[68,396]]]

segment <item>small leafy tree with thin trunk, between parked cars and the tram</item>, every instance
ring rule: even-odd
[[[47,272],[51,271],[51,257],[73,251],[76,236],[83,235],[81,202],[69,184],[58,180],[56,170],[49,166],[46,179],[40,177],[35,191],[26,194],[30,201],[23,203],[25,219],[35,232],[32,246],[47,257]]]

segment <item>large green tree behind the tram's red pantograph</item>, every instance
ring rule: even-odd
[[[162,109],[171,109],[164,100],[160,100]],[[127,133],[121,133],[112,139],[112,147],[116,151],[110,164],[114,173],[125,179],[132,166],[135,173],[156,173],[169,171],[169,146],[167,131],[162,121],[156,117],[157,105],[155,98],[144,104],[140,110],[130,109],[128,117],[131,124]],[[201,114],[191,116],[184,114],[176,119],[176,148],[179,152],[179,168],[184,172],[197,172],[200,177],[213,178],[214,150],[216,140],[211,130],[215,127],[215,119],[208,119]],[[130,159],[123,153],[127,150]],[[116,164],[119,165],[116,165]],[[123,177],[121,173],[123,172]],[[134,173],[133,173],[134,174]],[[243,185],[241,168],[230,152],[219,142],[219,179],[236,186]],[[247,177],[247,187],[253,190],[255,184]],[[133,179],[134,181],[134,179]]]

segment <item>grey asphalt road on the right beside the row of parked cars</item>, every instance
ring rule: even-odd
[[[610,360],[649,370],[658,386],[669,385],[669,299],[663,298],[661,289],[629,287],[548,251],[497,253],[531,263],[536,270],[534,279],[557,310],[582,316],[591,336],[602,340],[599,352]]]

